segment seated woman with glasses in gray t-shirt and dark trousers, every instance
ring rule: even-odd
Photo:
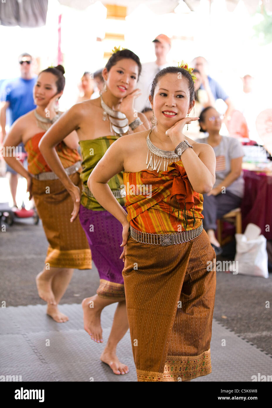
[[[203,195],[202,211],[204,229],[216,255],[222,253],[215,237],[216,220],[239,207],[244,194],[243,147],[234,137],[219,135],[223,118],[212,106],[205,108],[199,123],[200,131],[207,132],[208,136],[196,140],[212,146],[216,157],[215,184],[209,193]]]

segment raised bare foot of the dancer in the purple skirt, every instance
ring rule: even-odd
[[[81,305],[83,308],[84,329],[92,340],[97,343],[103,343],[102,327],[100,324],[100,315],[103,307],[99,303],[98,295],[86,297]]]

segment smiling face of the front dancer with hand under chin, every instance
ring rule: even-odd
[[[158,80],[153,101],[150,102],[157,124],[167,129],[186,118],[195,104],[195,101],[190,104],[187,78],[180,78],[178,73],[167,73]]]

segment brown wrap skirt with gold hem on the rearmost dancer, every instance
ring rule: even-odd
[[[69,176],[81,189],[79,173]],[[52,268],[91,269],[92,258],[79,217],[70,222],[72,197],[57,180],[32,179],[32,194],[49,246],[45,264]]]

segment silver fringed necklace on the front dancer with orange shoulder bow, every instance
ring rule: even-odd
[[[151,129],[151,131],[152,131],[152,129]],[[162,149],[159,149],[158,147],[154,146],[154,144],[151,143],[151,141],[149,139],[149,135],[150,135],[151,131],[149,132],[149,134],[147,136],[147,147],[148,147],[147,161],[146,161],[147,169],[151,165],[152,170],[157,170],[157,172],[159,172],[160,165],[162,164],[162,159],[165,159],[165,161],[167,160],[166,166],[165,166],[165,162],[164,162],[164,166],[163,166],[163,171],[165,171],[167,169],[168,162],[169,163],[177,162],[177,161],[180,160],[180,156],[176,155],[174,151],[162,150]],[[149,161],[148,161],[148,155],[149,155]],[[155,161],[155,156],[157,156],[156,161]],[[154,165],[153,165],[153,157],[154,157]]]

